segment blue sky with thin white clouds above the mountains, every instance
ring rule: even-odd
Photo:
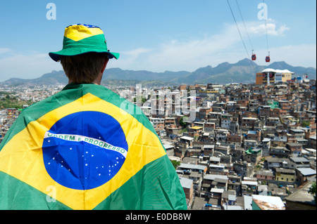
[[[270,51],[271,62],[316,67],[316,1],[266,0],[266,26],[258,17],[263,0],[228,1],[247,51],[226,0],[0,1],[0,81],[62,70],[48,53],[61,50],[65,27],[76,23],[101,27],[120,53],[108,67],[123,70],[193,72],[251,57],[251,45],[258,65],[270,65]],[[49,3],[56,20],[46,18]]]

